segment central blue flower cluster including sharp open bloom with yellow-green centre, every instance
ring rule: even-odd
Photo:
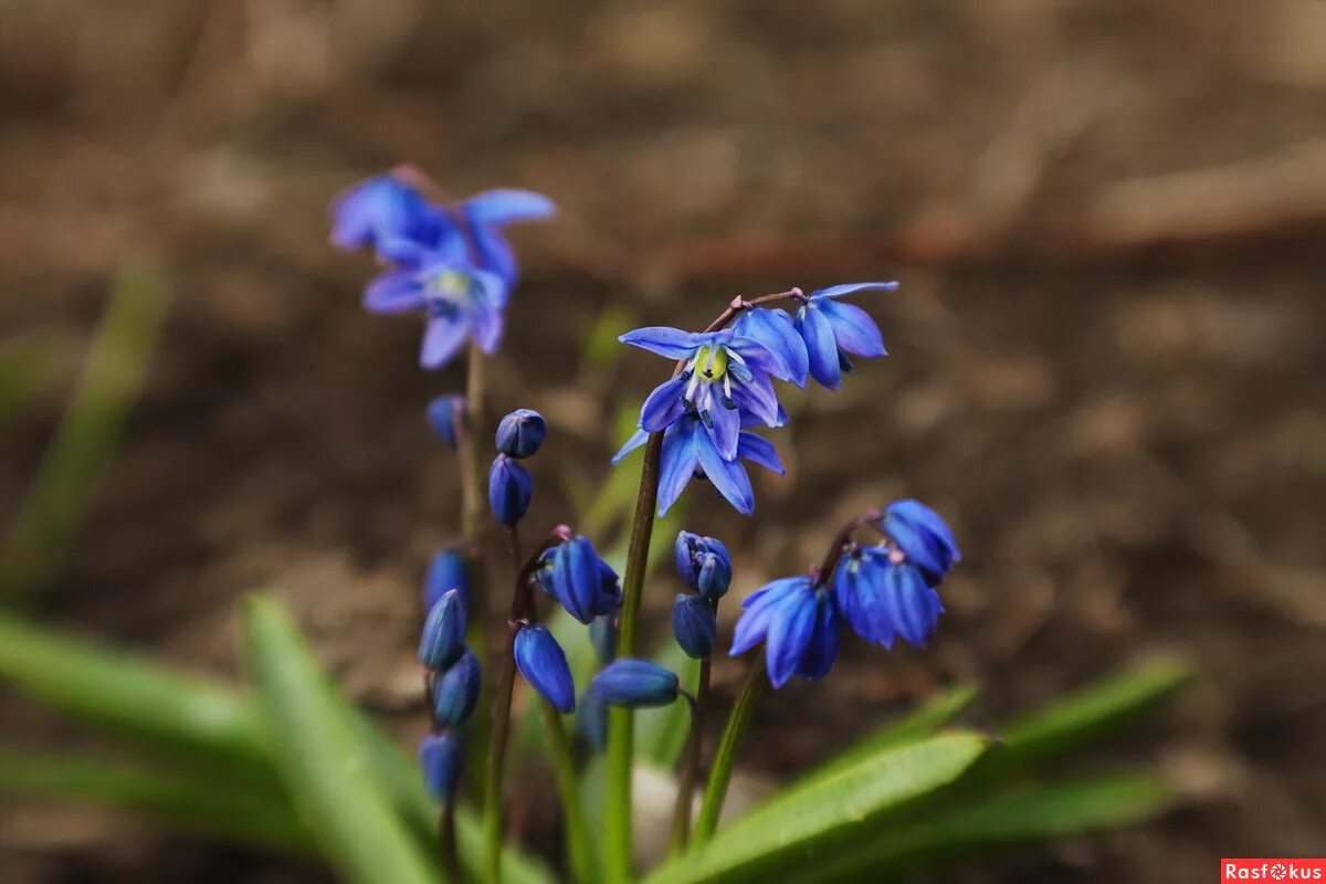
[[[782,463],[753,427],[781,427],[788,412],[773,382],[805,387],[808,378],[835,390],[851,370],[850,357],[884,355],[874,319],[838,298],[866,289],[896,289],[896,282],[853,282],[789,296],[796,317],[777,307],[739,301],[731,327],[692,333],[651,326],[619,341],[678,362],[678,371],[648,395],[639,429],[613,459],[621,461],[650,433],[663,433],[659,465],[659,514],[680,497],[692,477],[708,478],[737,512],[754,512],[754,492],[741,461],[782,474]]]

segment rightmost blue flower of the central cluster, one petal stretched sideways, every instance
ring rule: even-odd
[[[837,390],[842,372],[851,370],[847,354],[863,358],[884,355],[879,326],[861,307],[838,298],[867,289],[892,292],[896,282],[850,282],[812,292],[797,309],[797,331],[806,342],[810,375],[825,387]]]

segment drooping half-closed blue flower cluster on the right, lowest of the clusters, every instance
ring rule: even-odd
[[[944,611],[935,587],[961,558],[953,533],[914,500],[894,501],[865,525],[882,534],[879,543],[847,539],[827,571],[773,580],[748,596],[732,656],[762,641],[769,681],[781,688],[793,675],[827,675],[842,624],[886,648],[896,639],[924,647]]]

